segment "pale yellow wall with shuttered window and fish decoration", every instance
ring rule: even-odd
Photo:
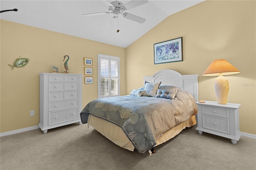
[[[70,73],[84,74],[84,57],[93,58],[94,83],[82,85],[82,107],[98,98],[98,53],[120,57],[121,95],[126,94],[125,48],[68,36],[40,28],[0,20],[1,24],[1,131],[33,127],[39,123],[39,75],[51,73],[50,65],[64,70],[63,56],[69,55]],[[12,70],[19,56],[28,65]],[[84,77],[84,76],[83,76]],[[30,111],[35,116],[30,117]]]

